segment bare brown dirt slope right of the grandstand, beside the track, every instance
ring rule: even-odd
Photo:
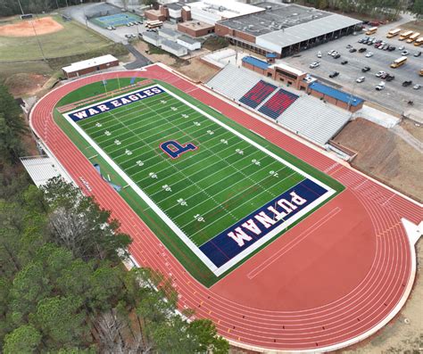
[[[421,153],[400,136],[359,118],[348,123],[334,140],[358,152],[353,167],[423,201]]]

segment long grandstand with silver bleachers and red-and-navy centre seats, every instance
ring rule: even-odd
[[[291,88],[280,88],[276,81],[232,64],[206,86],[321,146],[350,119],[348,111],[311,95],[296,95]]]

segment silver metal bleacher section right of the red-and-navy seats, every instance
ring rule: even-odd
[[[324,145],[349,119],[349,111],[304,95],[278,117],[278,123],[316,144]]]

